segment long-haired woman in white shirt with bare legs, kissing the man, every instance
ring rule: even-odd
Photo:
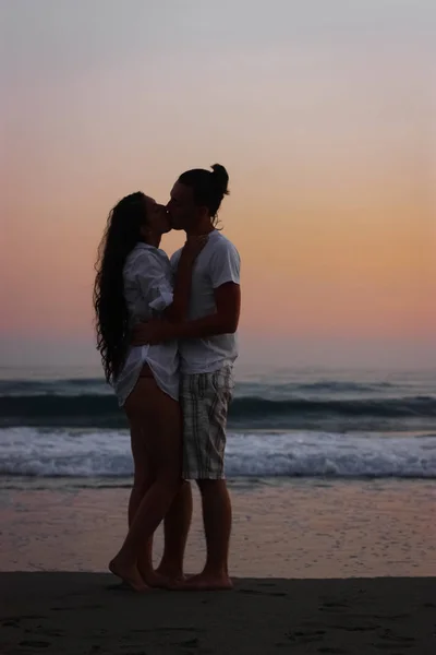
[[[192,266],[206,243],[186,242],[173,288],[169,259],[159,249],[170,229],[166,209],[155,200],[142,192],[123,198],[109,214],[94,287],[97,348],[130,424],[134,462],[129,533],[109,569],[135,591],[153,580],[149,539],[182,484],[182,431],[177,342],[130,347],[130,333],[159,315],[184,318]]]

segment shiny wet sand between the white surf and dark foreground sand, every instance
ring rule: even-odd
[[[52,485],[0,490],[0,571],[106,571],[125,535],[129,489],[63,487],[62,480]],[[231,484],[231,495],[232,575],[436,575],[432,480],[245,481]],[[159,529],[156,560],[161,548]],[[199,571],[204,557],[195,492],[186,570]]]

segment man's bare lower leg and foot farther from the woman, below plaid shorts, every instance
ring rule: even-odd
[[[226,480],[197,480],[197,485],[202,493],[207,558],[202,573],[190,577],[183,586],[231,590],[228,560],[232,511]]]

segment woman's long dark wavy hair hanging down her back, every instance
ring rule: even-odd
[[[128,254],[142,239],[147,219],[146,196],[141,191],[126,195],[109,213],[98,247],[93,302],[97,349],[106,380],[113,383],[124,364],[129,313],[124,300],[123,269]]]

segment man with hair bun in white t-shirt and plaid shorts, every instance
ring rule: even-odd
[[[193,270],[187,321],[171,325],[153,323],[140,329],[136,343],[179,338],[181,359],[180,402],[183,413],[183,477],[196,480],[203,508],[207,558],[203,571],[183,586],[226,590],[231,503],[225,479],[226,425],[233,391],[232,367],[238,356],[241,291],[240,257],[235,247],[216,229],[217,213],[228,194],[229,177],[216,164],[213,171],[189,170],[171,191],[168,211],[173,229],[186,238],[208,235]],[[181,250],[171,259],[177,271]],[[192,498],[186,485],[166,519],[166,551],[159,572],[179,568],[191,522]]]

